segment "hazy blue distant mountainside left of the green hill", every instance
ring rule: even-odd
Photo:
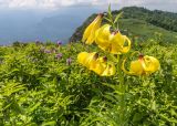
[[[0,45],[35,40],[67,42],[74,30],[97,11],[97,8],[91,7],[63,7],[54,11],[0,11]]]

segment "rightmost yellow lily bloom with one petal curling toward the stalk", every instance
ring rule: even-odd
[[[123,62],[123,71],[132,75],[149,75],[159,69],[159,62],[154,56],[140,55],[138,60],[131,62],[129,72],[125,70],[125,61]]]

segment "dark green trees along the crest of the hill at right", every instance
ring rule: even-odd
[[[137,7],[123,8],[122,11],[124,11],[123,18],[125,19],[143,20],[156,27],[177,32],[177,13],[159,10],[149,11],[145,8]],[[117,13],[117,11],[113,13]]]

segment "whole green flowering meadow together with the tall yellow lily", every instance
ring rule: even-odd
[[[0,126],[177,125],[176,43],[160,30],[128,39],[121,14],[103,17],[83,42],[0,46]]]

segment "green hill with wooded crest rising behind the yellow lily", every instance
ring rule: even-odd
[[[121,31],[131,36],[137,38],[140,42],[147,39],[160,36],[163,43],[175,43],[177,39],[177,13],[165,11],[150,11],[144,8],[127,7],[122,10],[112,11],[113,15],[123,12],[119,19]],[[70,38],[71,42],[80,41],[84,29],[93,21],[96,14],[92,14],[79,27]],[[106,23],[104,20],[103,23]]]

